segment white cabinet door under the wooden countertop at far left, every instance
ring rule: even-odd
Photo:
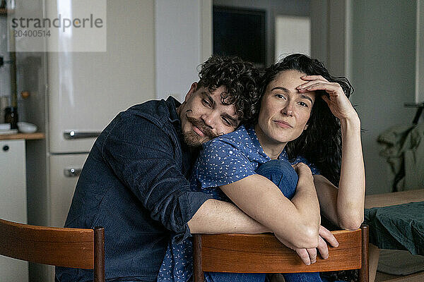
[[[27,223],[25,141],[0,141],[0,218]],[[0,280],[28,281],[28,262],[0,256]]]

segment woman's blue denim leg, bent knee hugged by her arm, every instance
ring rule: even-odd
[[[280,188],[283,195],[292,199],[298,185],[298,173],[288,161],[273,159],[261,164],[256,171]],[[283,274],[285,282],[322,282],[319,272]]]

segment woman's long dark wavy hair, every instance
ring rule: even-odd
[[[311,59],[304,54],[292,54],[266,68],[259,85],[261,97],[264,96],[269,83],[275,80],[281,71],[287,70],[299,71],[306,75],[322,75],[329,82],[337,82],[341,85],[346,97],[349,98],[353,93],[353,87],[347,78],[331,76],[324,64],[316,59]],[[321,99],[322,95],[328,97],[328,94],[323,90],[315,93],[317,95],[307,122],[308,127],[303,130],[298,138],[288,142],[286,145],[287,153],[290,161],[293,161],[299,155],[304,156],[308,161],[315,164],[322,175],[331,183],[338,185],[341,168],[340,121],[331,113],[326,102]],[[260,102],[256,106],[260,109]],[[255,123],[258,113],[259,111],[254,118]]]

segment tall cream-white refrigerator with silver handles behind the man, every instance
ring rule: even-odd
[[[73,3],[43,2],[48,18],[65,13],[59,3],[69,4],[66,13]],[[44,148],[28,148],[30,223],[63,227],[95,138],[120,111],[155,99],[154,1],[107,0],[106,8],[107,51],[45,53],[44,107],[28,111],[46,133]],[[84,44],[69,34],[59,39]],[[54,281],[53,274],[30,265],[30,281]]]

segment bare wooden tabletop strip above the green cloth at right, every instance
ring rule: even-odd
[[[424,202],[424,189],[365,196],[365,209],[407,204],[408,202]]]

